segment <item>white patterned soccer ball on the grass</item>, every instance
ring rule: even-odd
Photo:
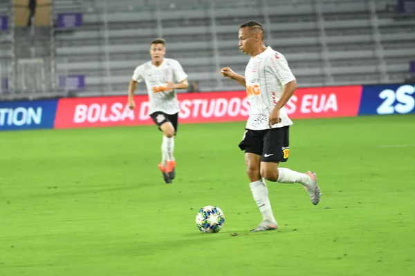
[[[225,222],[221,208],[205,206],[196,215],[196,226],[203,233],[218,233]]]

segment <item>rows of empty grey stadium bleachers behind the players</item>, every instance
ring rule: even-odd
[[[201,90],[239,89],[218,70],[243,73],[248,57],[239,52],[237,30],[250,20],[264,23],[267,45],[286,56],[299,86],[399,82],[415,58],[415,19],[388,11],[389,0],[54,2],[55,14],[84,13],[82,28],[56,37],[64,61],[58,70],[86,75],[83,95],[125,94],[156,37]]]

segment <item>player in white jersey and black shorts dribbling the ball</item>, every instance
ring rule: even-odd
[[[229,67],[222,68],[220,73],[246,87],[250,103],[246,131],[239,148],[245,150],[250,190],[263,217],[261,224],[251,231],[276,230],[278,224],[270,206],[265,179],[301,184],[314,205],[320,201],[320,188],[314,172],[278,168],[279,162],[288,159],[288,130],[293,124],[284,106],[297,89],[297,81],[284,55],[265,46],[264,27],[255,21],[241,25],[239,48],[251,56],[245,77]]]

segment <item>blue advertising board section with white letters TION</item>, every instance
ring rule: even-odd
[[[0,102],[0,131],[53,128],[57,100]]]

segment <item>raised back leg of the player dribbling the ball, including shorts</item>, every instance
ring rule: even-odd
[[[278,168],[279,162],[286,162],[290,152],[289,127],[273,128],[264,137],[264,155],[261,157],[261,176],[279,183],[299,183],[306,188],[311,202],[316,205],[320,201],[320,188],[315,173],[296,172],[289,168]]]

